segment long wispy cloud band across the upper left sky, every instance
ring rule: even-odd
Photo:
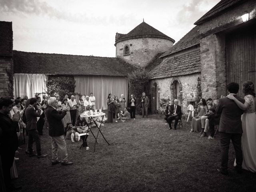
[[[108,16],[90,16],[86,13],[72,13],[58,10],[50,6],[47,2],[38,0],[0,0],[0,12],[6,14],[21,14],[22,16],[47,16],[51,19],[65,20],[68,22],[84,24],[116,25],[127,24],[132,14],[123,14],[116,18],[113,14]]]

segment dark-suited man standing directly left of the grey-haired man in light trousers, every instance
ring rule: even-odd
[[[37,157],[42,158],[46,157],[47,154],[41,154],[41,143],[40,138],[36,126],[37,117],[40,117],[41,110],[36,106],[37,99],[31,98],[30,105],[26,108],[25,115],[26,115],[26,130],[28,131],[28,152],[29,156],[36,156],[33,153],[33,140],[36,142],[36,152]]]

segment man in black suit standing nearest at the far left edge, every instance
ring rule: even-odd
[[[10,99],[0,100],[0,156],[2,160],[2,170],[4,183],[7,190],[20,189],[21,186],[11,185],[10,169],[14,161],[15,151],[18,149],[18,121],[19,113],[14,114],[12,119],[8,116],[12,110],[13,101]]]

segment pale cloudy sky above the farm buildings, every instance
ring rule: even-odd
[[[220,0],[0,0],[13,49],[115,57],[116,32],[144,21],[176,42]]]

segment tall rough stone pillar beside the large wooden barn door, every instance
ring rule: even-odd
[[[225,38],[213,34],[200,40],[202,98],[217,100],[226,94]]]

